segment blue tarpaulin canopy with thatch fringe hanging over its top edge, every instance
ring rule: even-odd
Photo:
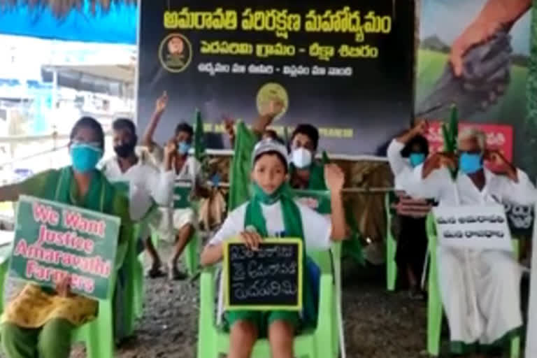
[[[108,9],[91,1],[0,0],[0,34],[67,41],[136,44],[138,10],[133,0],[108,1]],[[59,3],[59,1],[58,1]],[[65,3],[69,3],[65,6]]]

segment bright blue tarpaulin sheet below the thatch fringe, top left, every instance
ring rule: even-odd
[[[0,34],[136,45],[137,17],[136,6],[118,3],[112,3],[108,13],[97,8],[94,16],[86,6],[84,11],[71,11],[62,20],[57,20],[48,7],[30,12],[27,6],[19,6],[0,11]]]

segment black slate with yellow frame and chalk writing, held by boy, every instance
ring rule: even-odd
[[[227,242],[226,310],[301,310],[302,250],[299,238],[266,239],[258,251]]]

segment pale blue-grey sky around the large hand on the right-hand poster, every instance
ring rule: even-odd
[[[480,13],[488,0],[422,0],[420,39],[438,36],[446,45],[454,39]],[[439,15],[441,14],[441,15]],[[438,19],[442,22],[439,23]],[[511,29],[513,51],[529,56],[529,27],[531,11],[522,16]]]

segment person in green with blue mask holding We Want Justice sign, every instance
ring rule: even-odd
[[[96,169],[103,150],[101,124],[83,117],[71,131],[71,166],[0,187],[0,201],[17,201],[26,194],[115,215],[122,224],[120,241],[127,240],[131,235],[129,201]],[[70,282],[71,277],[67,276],[57,282],[55,289],[28,283],[11,299],[0,329],[1,344],[8,358],[69,357],[73,329],[97,315],[97,301],[71,294]]]

